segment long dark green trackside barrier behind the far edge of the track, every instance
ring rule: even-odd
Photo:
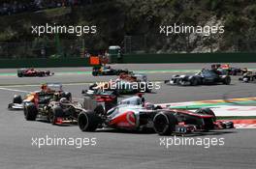
[[[118,61],[117,61],[118,62]],[[147,63],[256,63],[256,53],[127,54],[124,64]],[[2,59],[0,68],[89,67],[89,58]]]

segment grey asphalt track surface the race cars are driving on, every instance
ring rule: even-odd
[[[209,64],[210,65],[210,64]],[[251,67],[254,64],[240,64]],[[132,70],[200,69],[202,64],[178,65],[126,65]],[[114,67],[124,68],[123,65]],[[70,71],[76,69],[52,69]],[[82,69],[78,69],[82,70]],[[12,72],[15,70],[0,70]],[[150,73],[149,80],[163,81],[172,73]],[[37,90],[37,84],[43,82],[63,82],[64,89],[80,99],[80,91],[97,79],[104,81],[112,77],[92,77],[91,75],[59,75],[48,78],[17,78],[0,76],[0,168],[34,169],[34,168],[254,168],[256,165],[256,131],[255,129],[230,129],[197,134],[194,139],[224,138],[224,146],[170,146],[161,145],[164,137],[155,133],[117,132],[98,130],[81,132],[77,126],[51,126],[45,122],[26,122],[20,111],[8,111],[7,104],[13,95],[24,95],[25,91]],[[243,84],[233,77],[230,86],[212,85],[199,87],[177,87],[161,85],[155,94],[145,98],[151,102],[176,102],[203,99],[256,97],[256,84]],[[76,82],[76,83],[74,83]],[[9,85],[11,86],[9,86]],[[16,84],[35,84],[23,86]],[[16,86],[15,86],[16,85]],[[15,91],[16,90],[16,91]],[[20,91],[20,92],[18,92]],[[32,146],[32,138],[96,138],[95,146]],[[174,137],[168,137],[174,139]],[[182,138],[182,137],[179,137]]]

